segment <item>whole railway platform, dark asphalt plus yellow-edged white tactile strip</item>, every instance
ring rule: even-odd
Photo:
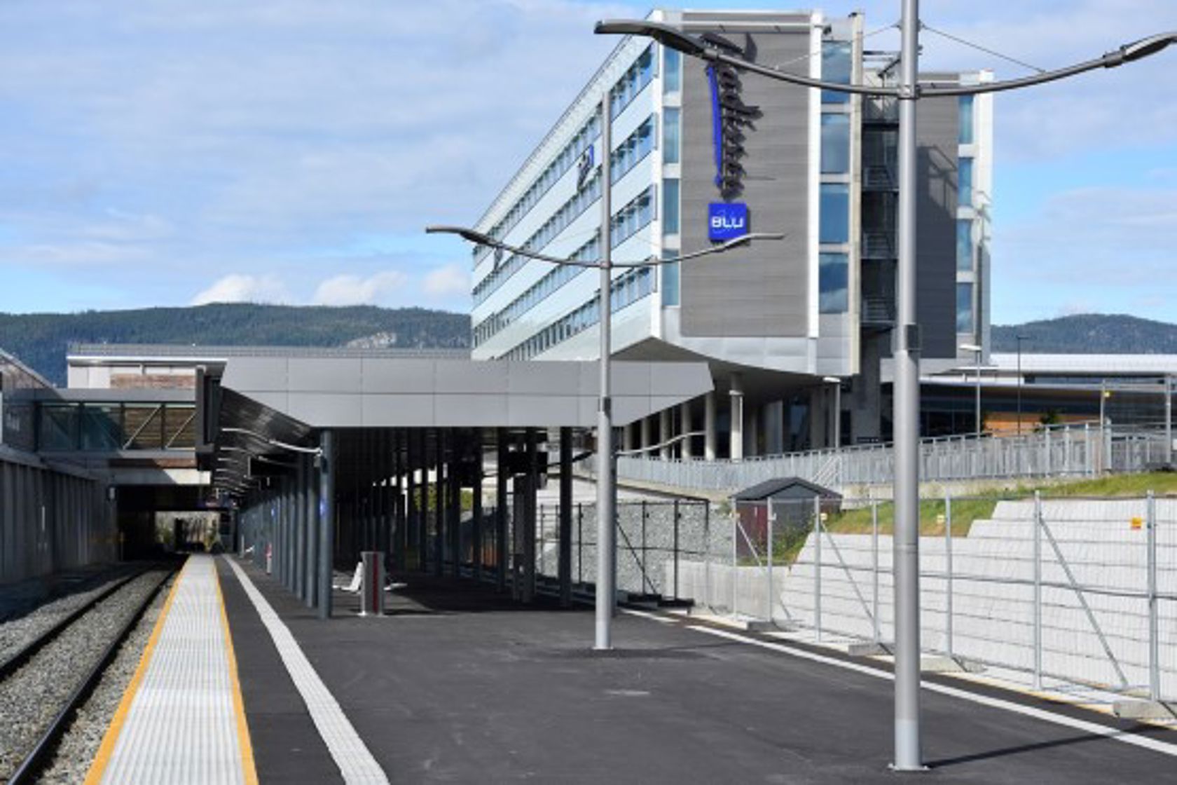
[[[1161,781],[1177,733],[927,677],[930,771],[898,774],[885,665],[417,577],[332,619],[252,564],[192,557],[91,781]],[[120,712],[122,710],[120,709]],[[105,757],[104,757],[105,756]]]

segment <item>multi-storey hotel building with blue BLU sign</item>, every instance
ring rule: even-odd
[[[897,58],[864,48],[859,14],[650,18],[827,81],[887,84],[897,69]],[[844,444],[885,437],[879,368],[895,321],[896,102],[709,68],[626,38],[478,229],[548,255],[598,259],[605,91],[614,261],[674,258],[725,232],[786,233],[697,261],[616,270],[614,355],[703,359],[716,382],[705,399],[626,430],[625,447],[696,433],[663,454],[739,458],[825,446],[836,433]],[[988,97],[920,102],[918,315],[923,358],[933,364],[955,362],[963,342],[988,346],[991,115]],[[596,272],[485,247],[473,266],[476,359],[598,357]]]

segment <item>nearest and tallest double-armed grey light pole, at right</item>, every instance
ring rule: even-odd
[[[898,87],[839,85],[749,62],[703,38],[663,22],[611,20],[597,24],[598,33],[647,35],[664,46],[709,62],[720,62],[771,79],[860,95],[899,100],[899,254],[897,264],[895,367],[895,760],[898,771],[917,771],[919,741],[919,326],[916,322],[916,101],[922,97],[975,95],[1029,87],[1065,76],[1113,68],[1155,54],[1177,41],[1177,32],[1152,35],[1119,47],[1095,60],[1037,73],[1022,79],[980,85],[920,87],[919,2],[902,0],[902,53]]]

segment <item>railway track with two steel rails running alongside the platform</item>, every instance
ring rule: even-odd
[[[158,578],[154,580],[145,579],[145,577],[152,576],[152,573],[158,573]],[[172,576],[175,574],[174,566],[160,566],[154,565],[145,567],[144,570],[129,576],[126,579],[119,580],[115,585],[104,590],[100,594],[92,598],[84,606],[79,607],[77,611],[72,612],[68,617],[64,618],[61,621],[55,624],[49,630],[36,637],[36,639],[26,644],[20,651],[14,656],[9,657],[2,665],[0,665],[0,690],[4,687],[19,688],[21,685],[9,684],[9,681],[16,681],[25,678],[28,684],[28,700],[36,700],[40,692],[40,685],[44,684],[46,679],[52,679],[52,676],[38,676],[35,674],[39,667],[39,659],[45,657],[46,663],[44,664],[44,670],[46,673],[54,673],[54,671],[60,672],[62,670],[62,663],[60,656],[58,661],[52,661],[49,654],[53,650],[53,644],[55,641],[62,640],[69,631],[74,630],[78,625],[84,625],[92,614],[102,614],[105,604],[111,600],[115,600],[120,592],[141,591],[142,597],[135,598],[133,610],[129,613],[125,613],[125,618],[120,624],[115,626],[114,630],[102,625],[102,640],[99,643],[100,652],[97,658],[91,657],[88,661],[74,665],[73,658],[67,657],[68,665],[66,670],[69,674],[75,674],[78,670],[85,668],[85,674],[80,680],[74,684],[72,690],[68,690],[67,694],[62,693],[65,691],[58,690],[59,694],[56,697],[56,705],[51,707],[52,719],[47,724],[38,723],[42,725],[38,729],[38,736],[33,739],[24,739],[24,744],[16,741],[19,749],[12,749],[8,752],[7,765],[4,760],[0,760],[0,783],[6,781],[9,785],[18,785],[22,783],[32,783],[36,778],[38,773],[41,771],[44,765],[48,760],[48,756],[56,747],[61,737],[65,734],[66,730],[77,712],[77,710],[86,701],[94,687],[98,686],[102,678],[107,666],[118,654],[119,647],[122,641],[126,640],[127,636],[135,628],[135,625],[142,618],[144,613],[151,607],[160,590],[167,585]],[[146,590],[140,585],[140,579],[145,579],[141,583],[146,583]],[[113,612],[118,612],[115,608]],[[95,617],[97,618],[97,617]],[[91,646],[93,650],[94,647]],[[67,652],[68,653],[68,652]],[[28,676],[33,673],[33,676]],[[12,698],[9,697],[9,700]],[[2,706],[0,706],[2,710]],[[44,717],[44,714],[42,714]],[[15,769],[12,769],[12,760],[20,756],[19,764]],[[7,769],[8,771],[5,771]],[[9,773],[11,772],[11,773]]]

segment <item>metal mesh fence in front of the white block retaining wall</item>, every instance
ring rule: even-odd
[[[920,500],[920,633],[960,666],[1177,698],[1177,499]],[[740,503],[684,597],[782,628],[893,640],[893,506]]]

